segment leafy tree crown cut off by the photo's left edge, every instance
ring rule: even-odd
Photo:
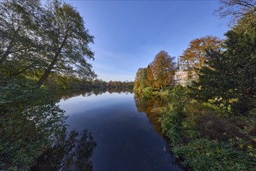
[[[0,66],[4,78],[38,65],[40,38],[33,17],[38,11],[38,0],[0,2]]]

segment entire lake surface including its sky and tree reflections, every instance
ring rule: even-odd
[[[73,97],[65,100],[58,96],[61,108],[69,116],[68,130],[88,129],[97,146],[94,148],[89,138],[84,139],[90,142],[79,145],[83,135],[75,131],[63,134],[62,141],[58,140],[41,156],[33,170],[180,170],[158,134],[160,110],[167,100],[160,96],[146,98],[136,94],[134,97],[130,92],[105,92],[96,96],[75,89],[63,91],[63,95]]]

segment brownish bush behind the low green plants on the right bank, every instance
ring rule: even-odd
[[[182,122],[187,138],[211,138],[228,141],[229,138],[246,138],[233,122],[222,117],[223,111],[209,103],[191,100],[184,107],[185,118]],[[198,131],[198,134],[197,132]]]

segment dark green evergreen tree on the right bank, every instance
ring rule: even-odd
[[[209,51],[209,67],[199,72],[194,95],[235,113],[247,113],[256,105],[256,15],[244,16],[226,33],[226,51]]]

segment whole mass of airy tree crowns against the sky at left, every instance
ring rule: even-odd
[[[42,85],[51,72],[93,79],[86,59],[94,60],[82,16],[72,5],[58,0],[0,2],[0,72],[2,79],[21,75]]]

